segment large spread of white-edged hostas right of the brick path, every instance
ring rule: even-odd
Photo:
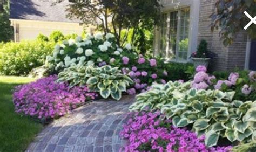
[[[176,127],[192,125],[198,136],[205,134],[207,147],[219,137],[248,142],[256,135],[256,102],[233,100],[234,92],[190,88],[190,82],[153,85],[136,96],[130,110],[160,110]]]

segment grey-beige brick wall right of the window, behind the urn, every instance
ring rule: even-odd
[[[215,0],[200,0],[198,44],[206,39],[208,49],[218,54],[210,63],[210,70],[232,71],[235,67],[244,68],[246,55],[245,33],[240,32],[232,45],[224,47],[219,38],[219,31],[210,30],[210,15],[215,10]]]

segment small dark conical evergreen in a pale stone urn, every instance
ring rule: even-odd
[[[191,55],[191,59],[195,67],[199,65],[204,65],[205,67],[208,66],[208,63],[211,58],[213,58],[214,53],[208,51],[207,49],[207,42],[205,39],[202,39],[198,48],[197,52],[193,52]]]

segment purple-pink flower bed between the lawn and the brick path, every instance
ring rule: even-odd
[[[56,80],[57,75],[52,75],[17,86],[13,95],[16,112],[38,119],[56,118],[97,96],[87,87],[70,88],[68,83]]]

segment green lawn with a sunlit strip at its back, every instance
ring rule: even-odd
[[[38,122],[14,112],[12,89],[34,79],[0,76],[0,151],[24,151],[43,128]]]

